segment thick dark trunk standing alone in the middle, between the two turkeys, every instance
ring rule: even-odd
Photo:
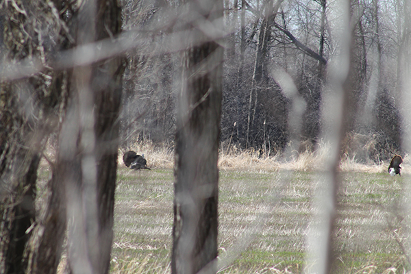
[[[223,15],[222,6],[221,0],[201,7],[191,1],[186,12],[199,12],[213,21]],[[175,274],[216,273],[222,58],[223,49],[213,41],[183,53],[171,260]]]

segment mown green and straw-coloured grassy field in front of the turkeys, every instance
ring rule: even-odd
[[[310,164],[290,171],[281,163],[271,169],[252,164],[236,169],[227,164],[229,159],[221,161],[228,167],[220,171],[219,259],[228,263],[220,273],[302,273],[310,268],[305,265],[306,242],[319,178]],[[373,172],[346,168],[341,173],[335,273],[411,269],[403,252],[401,208],[408,175],[393,178],[383,171],[379,166]],[[172,208],[169,166],[152,171],[120,167],[112,273],[170,272]]]

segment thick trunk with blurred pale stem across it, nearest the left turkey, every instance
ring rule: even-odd
[[[80,45],[119,34],[119,3],[85,3],[77,23]],[[72,172],[64,180],[67,218],[73,220],[68,232],[72,273],[108,273],[110,266],[123,67],[121,58],[111,58],[73,73],[60,140],[61,155]]]

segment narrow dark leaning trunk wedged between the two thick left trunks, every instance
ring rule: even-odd
[[[49,5],[49,8],[50,10],[47,11],[48,14],[52,12],[51,8],[53,8],[53,5]],[[64,12],[62,12],[62,10],[65,10],[71,14],[75,14],[73,5],[66,6],[63,5],[63,3],[55,3],[55,8],[58,10],[58,14],[60,14],[60,18],[52,17],[56,20],[56,24],[64,22],[67,26],[73,25],[75,17],[66,18]],[[48,20],[51,20],[50,17]],[[42,36],[45,37],[47,37],[47,35],[50,34],[47,32],[42,34]],[[56,36],[58,36],[58,41],[60,42],[56,46],[56,51],[64,51],[74,47],[75,41],[71,38],[70,33],[62,32],[58,35],[56,34]],[[47,51],[46,54],[48,54]],[[72,69],[53,72],[50,94],[55,97],[54,100],[58,103],[54,110],[54,112],[58,114],[58,121],[62,121],[65,115],[66,100],[67,97],[69,97],[69,90],[71,89],[70,81],[72,73]],[[58,132],[61,125],[57,121],[55,125],[53,132]],[[70,174],[64,173],[65,167],[69,166],[69,163],[62,161],[62,155],[59,151],[54,152],[56,154],[55,160],[54,162],[49,162],[51,169],[51,179],[47,183],[47,192],[50,193],[49,199],[44,203],[45,208],[43,210],[45,213],[42,218],[36,221],[32,237],[29,238],[29,242],[27,243],[24,258],[27,264],[25,273],[57,273],[58,264],[60,263],[63,252],[66,232],[66,195],[63,182],[66,175]]]

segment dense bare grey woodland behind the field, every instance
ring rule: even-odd
[[[401,148],[401,67],[408,53],[405,1],[351,1],[353,32],[352,92],[349,130],[344,151],[361,162],[387,160]],[[158,24],[167,1],[123,1],[123,29]],[[340,51],[340,12],[336,1],[225,1],[223,114],[221,142],[227,149],[262,149],[265,155],[284,151],[290,142],[289,95],[279,84],[287,73],[303,99],[300,149],[314,149],[321,138],[321,104]],[[273,5],[275,12],[273,12]],[[269,18],[262,14],[270,14]],[[166,31],[164,31],[166,33]],[[161,34],[147,42],[156,51]],[[155,41],[155,42],[154,42]],[[138,140],[173,142],[178,55],[128,56],[122,125],[133,125]],[[293,95],[294,96],[294,95]],[[125,136],[129,136],[127,132]],[[134,135],[135,136],[135,135]],[[133,136],[133,137],[134,137]],[[133,137],[126,138],[127,141]],[[127,147],[129,142],[125,142]]]

